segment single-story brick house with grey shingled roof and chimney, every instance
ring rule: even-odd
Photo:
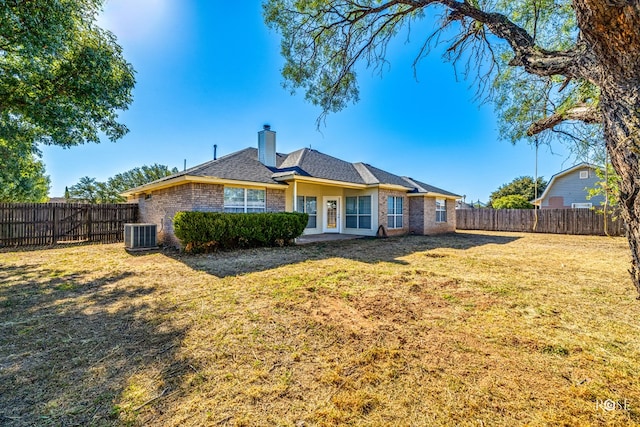
[[[246,148],[123,193],[137,200],[142,222],[175,245],[179,211],[306,212],[304,234],[436,234],[455,231],[460,196],[365,163],[303,148],[276,152],[276,133],[258,132]]]

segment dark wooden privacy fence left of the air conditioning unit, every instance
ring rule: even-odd
[[[137,204],[0,203],[0,247],[122,242],[137,219]]]

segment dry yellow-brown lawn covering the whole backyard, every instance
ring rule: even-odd
[[[0,253],[0,425],[640,425],[621,238]]]

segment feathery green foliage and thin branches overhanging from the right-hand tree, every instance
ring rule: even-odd
[[[579,35],[570,0],[267,0],[263,7],[267,25],[282,35],[285,87],[302,89],[307,100],[322,108],[321,117],[358,101],[357,71],[366,67],[381,72],[389,66],[387,49],[398,37],[418,39],[421,48],[415,52],[414,66],[438,43],[447,45],[445,59],[466,61],[457,69],[476,79],[479,97],[494,101],[502,119],[500,134],[512,142],[533,143],[533,123],[554,114],[565,116],[576,105],[599,103],[598,88],[585,79],[514,64],[516,50],[528,41],[514,32],[496,31],[509,22],[526,32],[537,51],[570,49]],[[429,8],[442,13],[439,26],[431,35],[412,31],[415,22],[431,16]],[[483,19],[495,21],[484,24]],[[555,129],[564,132],[544,132],[537,141],[549,143],[553,135],[577,141],[583,151],[602,135],[598,126],[575,121],[558,123]]]

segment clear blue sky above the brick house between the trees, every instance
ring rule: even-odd
[[[414,27],[389,50],[381,77],[359,72],[360,102],[329,115],[318,131],[317,107],[282,88],[280,36],[258,0],[108,0],[100,24],[114,32],[137,71],[134,102],[120,118],[130,129],[112,143],[42,147],[51,196],[83,176],[106,181],[153,163],[182,169],[257,146],[269,123],[278,152],[309,147],[486,201],[500,185],[533,176],[535,151],[498,138],[491,105],[474,101],[473,82],[434,51],[411,64],[430,28]],[[422,33],[424,31],[424,33]],[[573,165],[562,146],[541,147],[538,174]]]

